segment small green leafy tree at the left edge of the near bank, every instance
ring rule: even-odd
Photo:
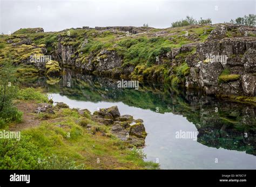
[[[15,68],[10,56],[0,67],[0,126],[11,120],[20,120],[22,113],[18,112],[12,101],[16,98],[18,89],[15,87]]]

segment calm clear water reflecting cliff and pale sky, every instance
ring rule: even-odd
[[[143,119],[148,133],[145,160],[159,161],[161,169],[256,169],[252,105],[154,83],[140,83],[139,90],[122,89],[117,88],[117,80],[72,71],[54,80],[36,78],[26,85],[43,87],[54,102],[73,108],[93,112],[117,105],[120,114]],[[197,139],[179,139],[176,132],[180,131],[197,133]]]

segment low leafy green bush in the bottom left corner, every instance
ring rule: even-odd
[[[22,135],[21,140],[0,139],[0,169],[83,169],[66,156],[46,156],[32,143],[31,136]]]

